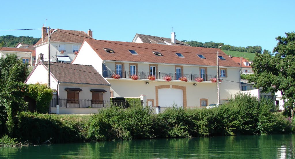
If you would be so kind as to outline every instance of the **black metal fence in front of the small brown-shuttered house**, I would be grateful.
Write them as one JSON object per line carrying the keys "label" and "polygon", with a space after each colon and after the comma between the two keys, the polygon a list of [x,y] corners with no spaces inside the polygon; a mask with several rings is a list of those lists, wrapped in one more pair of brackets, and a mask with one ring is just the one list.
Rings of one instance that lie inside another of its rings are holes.
{"label": "black metal fence in front of the small brown-shuttered house", "polygon": [[55,99],[50,102],[50,107],[65,107],[65,108],[106,108],[111,105],[122,108],[128,108],[130,106],[142,105],[142,102],[138,101],[126,101],[126,100],[84,100],[84,99]]}

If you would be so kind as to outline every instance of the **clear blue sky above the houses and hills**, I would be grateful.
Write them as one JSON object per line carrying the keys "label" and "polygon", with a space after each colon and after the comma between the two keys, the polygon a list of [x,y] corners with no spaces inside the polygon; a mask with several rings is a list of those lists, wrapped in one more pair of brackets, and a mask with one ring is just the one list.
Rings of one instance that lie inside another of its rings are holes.
{"label": "clear blue sky above the houses and hills", "polygon": [[[41,3],[42,2],[42,3]],[[101,40],[131,42],[136,33],[273,50],[294,31],[294,0],[286,1],[2,1],[0,29],[93,31]],[[49,9],[47,9],[49,8]],[[0,31],[41,37],[41,30]]]}

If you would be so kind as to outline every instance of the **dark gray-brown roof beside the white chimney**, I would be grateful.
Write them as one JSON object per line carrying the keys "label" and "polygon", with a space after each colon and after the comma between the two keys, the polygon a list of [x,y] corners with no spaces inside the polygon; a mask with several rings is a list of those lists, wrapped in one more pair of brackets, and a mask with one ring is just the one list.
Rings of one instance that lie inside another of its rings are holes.
{"label": "dark gray-brown roof beside the white chimney", "polygon": [[143,43],[147,44],[159,44],[165,42],[168,42],[171,45],[177,45],[177,46],[189,46],[188,44],[175,40],[175,43],[171,42],[171,38],[164,38],[164,37],[156,37],[152,35],[144,35],[144,34],[137,34],[138,37],[142,40]]}

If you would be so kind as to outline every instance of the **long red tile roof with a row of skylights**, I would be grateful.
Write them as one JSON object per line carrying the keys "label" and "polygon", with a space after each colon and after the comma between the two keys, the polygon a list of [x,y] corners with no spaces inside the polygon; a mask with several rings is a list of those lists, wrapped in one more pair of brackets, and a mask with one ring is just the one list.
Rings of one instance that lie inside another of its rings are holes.
{"label": "long red tile roof with a row of skylights", "polygon": [[[217,49],[95,39],[85,39],[85,42],[87,42],[103,60],[216,66]],[[107,53],[104,48],[112,49],[115,53]],[[128,50],[135,50],[138,55],[131,54]],[[153,51],[158,51],[162,53],[163,56],[156,56]],[[230,59],[228,55],[222,52],[222,50],[218,49],[218,52],[219,56],[226,59],[219,60],[219,66],[240,67],[235,61]],[[178,57],[175,53],[181,53],[184,57]],[[197,54],[203,55],[206,59],[201,59]]]}

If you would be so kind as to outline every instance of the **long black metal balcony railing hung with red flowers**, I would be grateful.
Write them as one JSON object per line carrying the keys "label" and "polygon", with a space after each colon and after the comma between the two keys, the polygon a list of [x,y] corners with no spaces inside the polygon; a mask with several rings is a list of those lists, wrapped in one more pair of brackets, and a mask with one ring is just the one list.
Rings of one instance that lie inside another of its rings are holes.
{"label": "long black metal balcony railing hung with red flowers", "polygon": [[[150,76],[150,72],[128,72],[128,71],[123,71],[121,75],[121,78],[131,78],[133,74],[136,74],[139,79],[148,79],[148,76]],[[103,77],[111,77],[113,74],[116,74],[116,71],[111,71],[111,70],[104,70],[103,71]],[[164,80],[165,76],[171,76],[172,80],[178,80],[176,77],[177,74],[175,73],[165,73],[165,72],[157,72],[155,74],[156,80]],[[217,78],[216,75],[212,74],[181,74],[182,77],[186,77],[189,81],[194,81],[197,77],[203,78],[204,81],[210,81],[211,78]]]}

